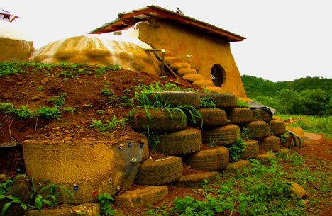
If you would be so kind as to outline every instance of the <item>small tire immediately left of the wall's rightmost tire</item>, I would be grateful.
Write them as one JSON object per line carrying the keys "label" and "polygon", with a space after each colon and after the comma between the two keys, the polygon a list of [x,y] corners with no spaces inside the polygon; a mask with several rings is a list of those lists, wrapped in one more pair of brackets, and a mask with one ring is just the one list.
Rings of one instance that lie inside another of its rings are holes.
{"label": "small tire immediately left of the wall's rightmost tire", "polygon": [[270,126],[263,120],[252,121],[243,125],[248,129],[248,137],[253,140],[260,140],[270,135]]}

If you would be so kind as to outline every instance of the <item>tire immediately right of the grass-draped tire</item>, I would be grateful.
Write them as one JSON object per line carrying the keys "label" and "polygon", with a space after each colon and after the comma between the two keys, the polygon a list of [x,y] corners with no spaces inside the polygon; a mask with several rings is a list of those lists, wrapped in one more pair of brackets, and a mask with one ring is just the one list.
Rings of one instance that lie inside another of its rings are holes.
{"label": "tire immediately right of the grass-draped tire", "polygon": [[196,127],[211,128],[220,127],[227,123],[227,115],[224,110],[219,108],[199,108],[201,118],[196,118],[197,123],[192,123],[192,120],[188,119],[188,124]]}

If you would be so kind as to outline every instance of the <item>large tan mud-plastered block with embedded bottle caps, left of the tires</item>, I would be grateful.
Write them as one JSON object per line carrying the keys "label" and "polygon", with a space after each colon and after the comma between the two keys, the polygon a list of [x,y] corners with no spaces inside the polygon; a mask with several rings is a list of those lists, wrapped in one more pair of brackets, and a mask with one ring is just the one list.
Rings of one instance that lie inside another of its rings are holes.
{"label": "large tan mud-plastered block with embedded bottle caps, left of the tires", "polygon": [[[57,195],[57,203],[98,202],[94,194],[114,195],[118,193],[118,187],[122,188],[126,183],[123,170],[131,162],[123,161],[116,152],[115,144],[114,141],[89,140],[23,142],[26,174],[35,183],[50,181],[61,186],[55,191],[61,192]],[[62,188],[72,192],[72,197]]]}

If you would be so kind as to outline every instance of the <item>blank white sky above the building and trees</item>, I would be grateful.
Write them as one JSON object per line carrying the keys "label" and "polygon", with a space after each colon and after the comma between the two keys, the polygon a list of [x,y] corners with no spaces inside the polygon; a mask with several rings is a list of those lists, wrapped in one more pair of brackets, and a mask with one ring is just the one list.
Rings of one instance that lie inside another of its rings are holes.
{"label": "blank white sky above the building and trees", "polygon": [[332,78],[331,0],[1,0],[0,8],[23,19],[19,25],[38,48],[82,35],[118,13],[149,5],[216,25],[247,39],[231,43],[240,74],[271,81],[306,76]]}

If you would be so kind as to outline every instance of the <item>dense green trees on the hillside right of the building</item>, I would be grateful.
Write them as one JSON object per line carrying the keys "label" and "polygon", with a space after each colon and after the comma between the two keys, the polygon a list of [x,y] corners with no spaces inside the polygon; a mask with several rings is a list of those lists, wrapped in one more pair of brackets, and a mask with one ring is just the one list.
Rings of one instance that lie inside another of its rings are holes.
{"label": "dense green trees on the hillside right of the building", "polygon": [[331,115],[332,79],[305,77],[278,81],[241,76],[248,98],[271,106],[280,114]]}

